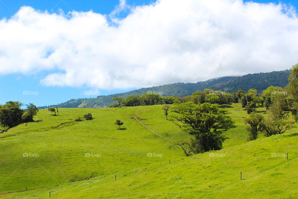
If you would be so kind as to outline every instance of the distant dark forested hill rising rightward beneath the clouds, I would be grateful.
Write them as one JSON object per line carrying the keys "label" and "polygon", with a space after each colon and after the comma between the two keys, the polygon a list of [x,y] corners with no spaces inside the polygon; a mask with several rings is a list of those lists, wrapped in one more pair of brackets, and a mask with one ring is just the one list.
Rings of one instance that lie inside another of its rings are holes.
{"label": "distant dark forested hill rising rightward beneath the clouds", "polygon": [[[285,71],[273,71],[267,73],[254,73],[244,76],[225,76],[210,79],[207,81],[199,81],[197,83],[174,83],[162,86],[153,86],[149,88],[141,88],[132,90],[125,93],[118,93],[113,95],[102,95],[97,98],[84,98],[84,99],[70,99],[67,102],[57,104],[60,108],[100,108],[109,106],[112,103],[113,97],[126,98],[129,95],[142,95],[147,92],[157,92],[163,96],[180,96],[184,97],[191,95],[193,92],[210,88],[213,90],[221,90],[226,92],[234,92],[238,89],[247,91],[251,88],[259,90],[265,90],[269,86],[281,86],[285,87],[288,84],[288,76],[290,70]],[[56,105],[51,105],[56,106]],[[38,107],[38,109],[45,109],[48,106]]]}

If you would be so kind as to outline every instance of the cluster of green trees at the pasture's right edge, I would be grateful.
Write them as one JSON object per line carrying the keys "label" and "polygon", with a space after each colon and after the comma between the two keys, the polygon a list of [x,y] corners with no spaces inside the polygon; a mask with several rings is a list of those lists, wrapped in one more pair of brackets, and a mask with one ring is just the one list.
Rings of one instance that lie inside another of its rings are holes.
{"label": "cluster of green trees at the pasture's right edge", "polygon": [[[250,89],[246,96],[248,101],[246,105],[247,113],[251,113],[252,108],[257,102],[260,102],[266,109],[268,117],[264,120],[264,117],[258,114],[253,114],[244,121],[247,130],[247,140],[257,139],[259,132],[263,132],[266,137],[282,134],[287,130],[294,128],[297,121],[297,99],[295,98],[298,81],[297,81],[297,69],[298,65],[292,67],[291,75],[289,77],[289,85],[285,88],[290,95],[287,95],[286,91],[282,88],[269,86],[262,92],[260,98],[257,97],[257,92]],[[249,100],[251,102],[249,102]],[[252,104],[253,103],[253,104]],[[243,107],[243,103],[242,103]],[[294,117],[295,121],[290,119],[290,113]]]}

